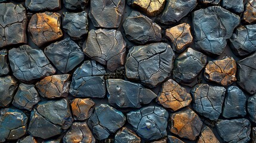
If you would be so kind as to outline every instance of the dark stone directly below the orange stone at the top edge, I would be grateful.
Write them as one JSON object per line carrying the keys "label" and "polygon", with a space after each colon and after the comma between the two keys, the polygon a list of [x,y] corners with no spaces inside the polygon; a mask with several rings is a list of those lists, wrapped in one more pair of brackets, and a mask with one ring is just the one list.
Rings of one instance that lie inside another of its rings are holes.
{"label": "dark stone directly below the orange stone at the top edge", "polygon": [[134,43],[159,42],[162,38],[161,27],[138,11],[132,11],[129,14],[124,21],[123,27],[125,36]]}

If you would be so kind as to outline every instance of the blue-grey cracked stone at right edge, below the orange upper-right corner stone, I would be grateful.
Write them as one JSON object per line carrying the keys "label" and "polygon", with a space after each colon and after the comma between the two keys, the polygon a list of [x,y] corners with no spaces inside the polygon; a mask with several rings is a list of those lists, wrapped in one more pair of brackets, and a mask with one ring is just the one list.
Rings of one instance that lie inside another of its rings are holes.
{"label": "blue-grey cracked stone at right edge, below the orange upper-right corner stone", "polygon": [[239,26],[230,38],[230,48],[235,55],[248,55],[256,51],[256,24]]}

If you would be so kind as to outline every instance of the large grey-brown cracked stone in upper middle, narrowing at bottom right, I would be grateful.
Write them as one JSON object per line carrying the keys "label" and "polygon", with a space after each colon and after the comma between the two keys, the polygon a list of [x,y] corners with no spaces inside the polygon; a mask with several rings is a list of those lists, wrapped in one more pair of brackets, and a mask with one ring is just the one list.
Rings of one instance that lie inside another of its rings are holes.
{"label": "large grey-brown cracked stone in upper middle, narrowing at bottom right", "polygon": [[124,66],[126,57],[126,42],[122,33],[114,29],[90,30],[83,49],[85,55],[107,65],[107,69],[115,71]]}

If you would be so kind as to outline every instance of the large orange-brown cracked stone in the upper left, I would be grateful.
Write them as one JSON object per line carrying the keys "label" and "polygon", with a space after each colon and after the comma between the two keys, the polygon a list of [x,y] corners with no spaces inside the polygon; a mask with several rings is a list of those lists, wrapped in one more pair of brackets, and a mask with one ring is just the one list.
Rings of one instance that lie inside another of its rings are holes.
{"label": "large orange-brown cracked stone in the upper left", "polygon": [[28,26],[32,41],[39,47],[57,41],[63,37],[60,29],[60,17],[58,13],[36,13],[33,14]]}

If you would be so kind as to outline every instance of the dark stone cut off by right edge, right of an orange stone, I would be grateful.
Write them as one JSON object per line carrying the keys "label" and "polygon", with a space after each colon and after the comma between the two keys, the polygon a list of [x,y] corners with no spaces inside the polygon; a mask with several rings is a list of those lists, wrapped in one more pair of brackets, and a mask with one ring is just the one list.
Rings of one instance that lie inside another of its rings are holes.
{"label": "dark stone cut off by right edge, right of an orange stone", "polygon": [[[256,93],[256,52],[237,62],[236,73],[238,85],[249,94]],[[249,76],[248,76],[249,75]]]}

